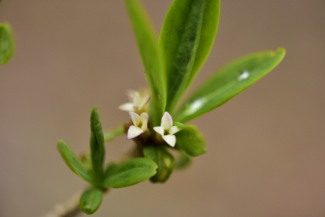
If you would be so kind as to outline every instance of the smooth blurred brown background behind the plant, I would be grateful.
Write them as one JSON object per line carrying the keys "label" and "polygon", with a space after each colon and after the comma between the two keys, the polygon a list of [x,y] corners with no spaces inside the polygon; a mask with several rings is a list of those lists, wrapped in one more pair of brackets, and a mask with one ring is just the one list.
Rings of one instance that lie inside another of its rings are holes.
{"label": "smooth blurred brown background behind the plant", "polygon": [[[171,1],[144,5],[160,31]],[[210,57],[191,89],[230,60],[279,46],[273,72],[193,121],[208,152],[166,184],[106,194],[93,216],[325,216],[325,1],[222,1]],[[86,187],[56,149],[89,151],[89,117],[129,118],[125,91],[146,87],[122,1],[3,0],[16,55],[0,66],[0,216],[41,216]],[[107,143],[107,160],[132,148]],[[86,216],[81,214],[80,216]]]}

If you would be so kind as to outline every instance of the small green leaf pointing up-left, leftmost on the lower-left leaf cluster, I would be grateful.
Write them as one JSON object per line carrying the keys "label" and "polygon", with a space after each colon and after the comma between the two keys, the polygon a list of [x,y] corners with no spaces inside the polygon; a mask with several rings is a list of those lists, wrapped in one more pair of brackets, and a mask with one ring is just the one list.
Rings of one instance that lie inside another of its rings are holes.
{"label": "small green leaf pointing up-left, leftmost on the lower-left leaf cluster", "polygon": [[72,172],[79,175],[84,181],[92,184],[91,173],[63,140],[59,140],[59,143],[57,143],[57,150],[59,150],[64,162]]}

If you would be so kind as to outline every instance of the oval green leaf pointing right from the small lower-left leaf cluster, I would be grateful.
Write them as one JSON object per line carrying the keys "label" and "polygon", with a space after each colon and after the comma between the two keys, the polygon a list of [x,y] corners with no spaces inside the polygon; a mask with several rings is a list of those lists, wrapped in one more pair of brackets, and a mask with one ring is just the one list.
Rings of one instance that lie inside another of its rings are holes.
{"label": "oval green leaf pointing right from the small lower-left leaf cluster", "polygon": [[106,170],[104,186],[114,189],[143,182],[156,174],[157,165],[146,157],[132,158],[121,165],[111,164]]}

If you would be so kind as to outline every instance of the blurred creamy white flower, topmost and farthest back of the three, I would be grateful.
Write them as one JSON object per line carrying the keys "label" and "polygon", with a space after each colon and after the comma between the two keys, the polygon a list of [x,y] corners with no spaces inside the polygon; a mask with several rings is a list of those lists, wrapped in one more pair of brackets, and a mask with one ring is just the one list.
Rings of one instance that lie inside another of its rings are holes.
{"label": "blurred creamy white flower, topmost and farthest back of the three", "polygon": [[150,99],[150,95],[145,90],[130,90],[127,91],[127,96],[129,97],[130,102],[120,105],[118,109],[123,111],[141,112]]}

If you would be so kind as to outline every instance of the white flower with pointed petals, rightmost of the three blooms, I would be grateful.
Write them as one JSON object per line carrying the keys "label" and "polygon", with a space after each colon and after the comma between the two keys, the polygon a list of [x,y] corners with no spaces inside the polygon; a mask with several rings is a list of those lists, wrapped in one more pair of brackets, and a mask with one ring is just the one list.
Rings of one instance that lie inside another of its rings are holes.
{"label": "white flower with pointed petals, rightmost of the three blooms", "polygon": [[[171,118],[171,115],[166,111],[164,116],[161,118],[160,126],[154,127],[154,130],[161,135],[167,144],[174,147],[176,144],[176,136],[173,134],[177,133],[181,129],[177,126],[173,126],[173,118]],[[165,133],[167,135],[164,135]]]}

